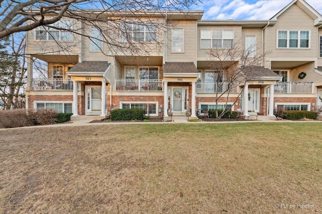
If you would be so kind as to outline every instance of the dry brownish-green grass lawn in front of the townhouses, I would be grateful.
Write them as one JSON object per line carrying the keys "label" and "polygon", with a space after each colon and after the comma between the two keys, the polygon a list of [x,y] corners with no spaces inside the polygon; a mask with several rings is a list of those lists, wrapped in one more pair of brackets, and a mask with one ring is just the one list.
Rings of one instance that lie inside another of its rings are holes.
{"label": "dry brownish-green grass lawn in front of the townhouses", "polygon": [[0,130],[0,213],[322,213],[321,130],[322,123]]}

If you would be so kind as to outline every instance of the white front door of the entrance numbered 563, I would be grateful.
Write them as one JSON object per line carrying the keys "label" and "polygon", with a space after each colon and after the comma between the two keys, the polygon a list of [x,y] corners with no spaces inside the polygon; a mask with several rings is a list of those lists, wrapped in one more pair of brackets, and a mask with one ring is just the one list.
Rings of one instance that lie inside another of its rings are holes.
{"label": "white front door of the entrance numbered 563", "polygon": [[102,107],[102,87],[87,86],[86,88],[86,112],[101,113]]}

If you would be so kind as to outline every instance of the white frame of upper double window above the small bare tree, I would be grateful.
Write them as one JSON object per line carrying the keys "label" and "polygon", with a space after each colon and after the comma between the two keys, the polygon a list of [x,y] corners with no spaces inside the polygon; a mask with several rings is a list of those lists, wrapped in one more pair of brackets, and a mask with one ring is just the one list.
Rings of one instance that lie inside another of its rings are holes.
{"label": "white frame of upper double window above the small bare tree", "polygon": [[[221,31],[221,38],[215,38],[213,36],[214,31]],[[225,38],[224,37],[225,31],[231,31],[232,32],[232,38]],[[206,35],[203,35],[202,32],[208,32],[207,35],[210,36],[210,37],[209,38],[206,38]],[[234,35],[235,35],[235,31],[232,30],[232,29],[218,29],[218,30],[200,29],[199,47],[200,47],[200,49],[207,49],[207,48],[230,49],[230,48],[233,48],[233,45],[234,45]],[[201,47],[202,40],[210,40],[210,47]],[[221,46],[220,47],[213,47],[213,41],[214,40],[221,40]],[[231,47],[224,47],[224,41],[225,40],[232,40]]]}

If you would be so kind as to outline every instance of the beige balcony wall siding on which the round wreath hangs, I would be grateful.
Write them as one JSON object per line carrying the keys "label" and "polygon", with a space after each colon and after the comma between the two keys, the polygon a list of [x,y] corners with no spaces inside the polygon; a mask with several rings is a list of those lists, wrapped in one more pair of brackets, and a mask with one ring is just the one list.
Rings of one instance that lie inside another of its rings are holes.
{"label": "beige balcony wall siding on which the round wreath hangs", "polygon": [[[298,74],[301,72],[306,73],[304,79],[299,79]],[[299,66],[293,69],[293,82],[321,82],[322,75],[315,72],[314,62]]]}

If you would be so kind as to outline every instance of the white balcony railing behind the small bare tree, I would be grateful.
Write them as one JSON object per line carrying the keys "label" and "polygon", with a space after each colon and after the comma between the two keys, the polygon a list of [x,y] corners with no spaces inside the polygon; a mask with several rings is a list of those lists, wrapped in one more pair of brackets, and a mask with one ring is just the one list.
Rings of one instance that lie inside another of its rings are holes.
{"label": "white balcony railing behind the small bare tree", "polygon": [[[229,90],[228,90],[229,89]],[[228,82],[220,82],[220,83],[204,83],[197,82],[196,92],[197,93],[237,93],[237,85]]]}

